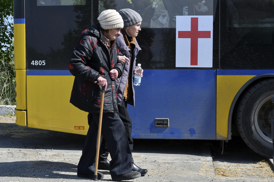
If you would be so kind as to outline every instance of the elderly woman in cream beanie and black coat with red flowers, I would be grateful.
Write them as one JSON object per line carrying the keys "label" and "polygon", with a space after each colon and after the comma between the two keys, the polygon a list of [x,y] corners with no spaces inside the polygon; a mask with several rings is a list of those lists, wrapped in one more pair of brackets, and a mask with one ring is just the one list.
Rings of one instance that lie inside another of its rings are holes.
{"label": "elderly woman in cream beanie and black coat with red flowers", "polygon": [[[122,64],[118,63],[116,38],[124,22],[115,10],[105,10],[99,17],[99,24],[82,31],[79,44],[69,59],[69,70],[75,76],[70,103],[88,112],[88,133],[84,142],[82,156],[77,167],[78,177],[93,178],[96,166],[96,138],[98,133],[99,110],[104,87],[102,115],[102,136],[108,142],[110,175],[112,180],[121,181],[140,177],[132,171],[131,151],[126,130],[118,115],[115,79],[122,75]],[[98,82],[94,84],[94,82]],[[98,172],[98,179],[104,175]]]}

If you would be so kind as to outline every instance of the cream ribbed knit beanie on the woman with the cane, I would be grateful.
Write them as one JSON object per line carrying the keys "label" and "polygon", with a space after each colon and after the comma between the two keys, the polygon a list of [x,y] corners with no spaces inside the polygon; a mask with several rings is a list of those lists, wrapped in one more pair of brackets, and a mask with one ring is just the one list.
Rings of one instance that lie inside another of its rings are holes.
{"label": "cream ribbed knit beanie on the woman with the cane", "polygon": [[99,20],[100,26],[104,30],[124,27],[122,16],[114,9],[103,11],[97,20]]}

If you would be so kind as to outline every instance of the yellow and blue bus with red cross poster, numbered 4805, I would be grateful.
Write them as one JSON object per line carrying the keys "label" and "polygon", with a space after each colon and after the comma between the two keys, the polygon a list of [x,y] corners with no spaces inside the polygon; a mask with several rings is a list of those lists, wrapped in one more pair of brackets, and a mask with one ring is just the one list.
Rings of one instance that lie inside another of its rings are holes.
{"label": "yellow and blue bus with red cross poster, numbered 4805", "polygon": [[272,0],[14,0],[17,125],[86,135],[68,59],[100,12],[122,8],[143,19],[132,138],[225,141],[238,130],[272,156]]}

